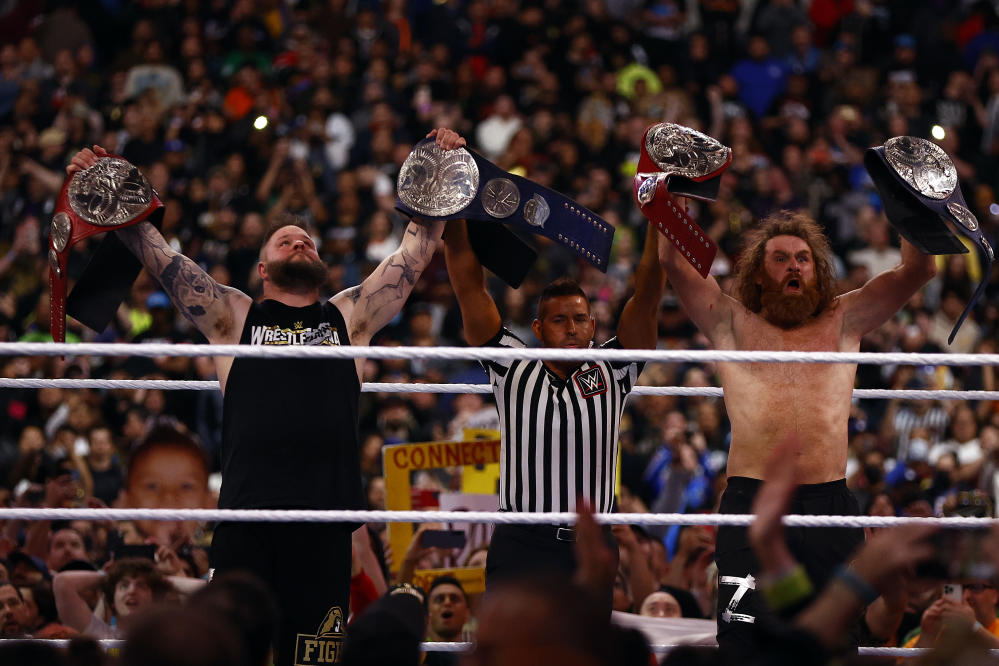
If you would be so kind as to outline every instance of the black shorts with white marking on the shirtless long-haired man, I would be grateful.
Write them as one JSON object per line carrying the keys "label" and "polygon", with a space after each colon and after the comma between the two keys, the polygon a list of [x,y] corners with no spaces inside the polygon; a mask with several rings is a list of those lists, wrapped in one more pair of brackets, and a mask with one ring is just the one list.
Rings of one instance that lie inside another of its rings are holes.
{"label": "black shorts with white marking on the shirtless long-haired man", "polygon": [[[763,484],[758,479],[730,477],[722,495],[719,513],[753,512],[753,498]],[[846,481],[802,485],[788,513],[801,515],[848,515],[860,513]],[[808,572],[815,591],[821,590],[836,567],[847,561],[864,541],[861,528],[794,527],[786,530],[787,543],[795,559]],[[745,527],[721,527],[715,546],[718,563],[718,647],[724,663],[740,663],[758,655],[761,635],[777,621],[754,589],[760,566],[746,539]]]}

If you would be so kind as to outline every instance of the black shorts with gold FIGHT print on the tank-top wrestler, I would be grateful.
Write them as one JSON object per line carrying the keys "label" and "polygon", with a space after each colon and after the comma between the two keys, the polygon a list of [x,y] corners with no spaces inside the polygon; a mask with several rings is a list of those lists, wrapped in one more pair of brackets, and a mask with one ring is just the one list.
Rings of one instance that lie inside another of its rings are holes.
{"label": "black shorts with gold FIGHT print on the tank-top wrestler", "polygon": [[339,660],[350,603],[350,527],[334,523],[216,527],[214,575],[251,571],[274,592],[281,613],[276,666]]}

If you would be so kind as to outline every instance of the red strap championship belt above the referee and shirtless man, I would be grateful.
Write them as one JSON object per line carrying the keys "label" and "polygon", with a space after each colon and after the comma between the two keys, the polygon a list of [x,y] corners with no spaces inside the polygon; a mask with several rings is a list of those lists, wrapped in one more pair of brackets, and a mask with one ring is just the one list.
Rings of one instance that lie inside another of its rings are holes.
{"label": "red strap championship belt above the referee and shirtless man", "polygon": [[674,194],[714,201],[732,149],[683,125],[658,123],[645,130],[635,175],[642,214],[668,238],[701,277],[707,277],[718,246],[687,215]]}

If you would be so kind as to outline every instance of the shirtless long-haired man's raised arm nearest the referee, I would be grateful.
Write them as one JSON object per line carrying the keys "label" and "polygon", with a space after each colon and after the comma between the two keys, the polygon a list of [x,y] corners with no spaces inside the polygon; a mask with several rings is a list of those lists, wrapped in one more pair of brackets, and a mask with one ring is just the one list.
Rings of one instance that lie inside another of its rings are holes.
{"label": "shirtless long-haired man's raised arm nearest the referee", "polygon": [[687,316],[717,347],[732,328],[734,299],[724,294],[714,276],[702,278],[672,243],[659,243],[659,262]]}

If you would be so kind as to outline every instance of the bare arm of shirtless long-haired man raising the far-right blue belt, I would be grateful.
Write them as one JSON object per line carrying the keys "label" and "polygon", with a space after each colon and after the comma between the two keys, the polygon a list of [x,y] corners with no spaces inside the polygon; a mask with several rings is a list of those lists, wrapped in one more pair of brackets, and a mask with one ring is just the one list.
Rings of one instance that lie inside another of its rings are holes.
{"label": "bare arm of shirtless long-haired man raising the far-right blue belt", "polygon": [[902,239],[902,263],[841,297],[843,333],[861,338],[888,321],[937,273],[933,255]]}

